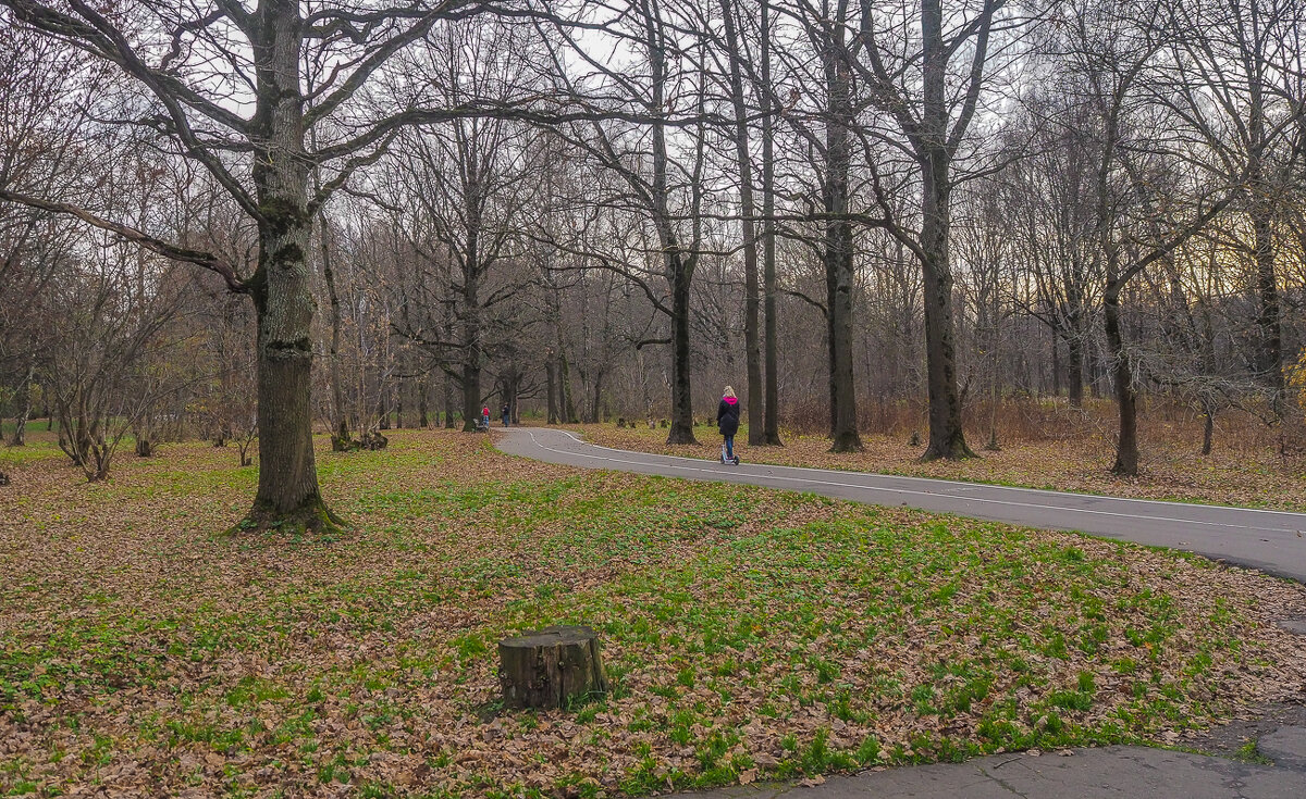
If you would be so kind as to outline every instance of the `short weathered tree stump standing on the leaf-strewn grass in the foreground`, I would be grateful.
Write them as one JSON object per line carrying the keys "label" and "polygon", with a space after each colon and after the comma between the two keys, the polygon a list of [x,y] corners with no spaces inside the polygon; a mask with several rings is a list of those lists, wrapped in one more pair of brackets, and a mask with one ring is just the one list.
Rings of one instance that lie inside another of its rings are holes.
{"label": "short weathered tree stump standing on the leaf-strewn grass in the foreground", "polygon": [[598,636],[588,627],[546,627],[499,642],[499,684],[511,708],[562,708],[607,691]]}

